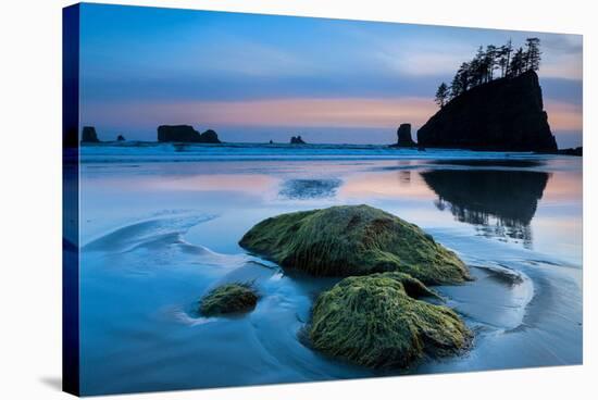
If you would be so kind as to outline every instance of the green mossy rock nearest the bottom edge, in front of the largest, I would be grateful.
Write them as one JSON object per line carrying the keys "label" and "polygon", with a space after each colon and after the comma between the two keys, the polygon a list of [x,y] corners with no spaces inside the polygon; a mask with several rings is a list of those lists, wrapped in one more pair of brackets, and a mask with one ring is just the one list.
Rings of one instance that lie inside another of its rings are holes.
{"label": "green mossy rock nearest the bottom edge, in front of the largest", "polygon": [[472,334],[449,308],[416,299],[429,295],[401,273],[345,278],[317,298],[310,341],[329,357],[375,368],[456,354]]}

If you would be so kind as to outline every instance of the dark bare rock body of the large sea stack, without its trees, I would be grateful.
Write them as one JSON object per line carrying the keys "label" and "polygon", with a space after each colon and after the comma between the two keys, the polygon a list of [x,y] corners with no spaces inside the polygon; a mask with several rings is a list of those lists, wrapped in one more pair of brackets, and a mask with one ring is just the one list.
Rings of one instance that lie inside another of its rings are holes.
{"label": "dark bare rock body of the large sea stack, without its trees", "polygon": [[476,86],[452,99],[418,130],[418,143],[487,151],[557,150],[533,71]]}

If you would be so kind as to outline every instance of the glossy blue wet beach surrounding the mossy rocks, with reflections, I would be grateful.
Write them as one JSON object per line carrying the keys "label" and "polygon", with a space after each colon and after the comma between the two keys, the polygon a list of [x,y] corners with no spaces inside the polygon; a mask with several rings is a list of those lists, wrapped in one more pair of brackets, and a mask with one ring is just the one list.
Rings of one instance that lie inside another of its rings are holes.
{"label": "glossy blue wet beach surrounding the mossy rocks, with reflections", "polygon": [[[581,363],[581,159],[499,155],[84,162],[83,392]],[[474,329],[470,351],[384,372],[322,357],[302,329],[337,279],[285,274],[237,243],[262,218],[358,203],[470,265],[474,282],[436,288]],[[197,315],[202,295],[239,280],[256,283],[256,310]]]}

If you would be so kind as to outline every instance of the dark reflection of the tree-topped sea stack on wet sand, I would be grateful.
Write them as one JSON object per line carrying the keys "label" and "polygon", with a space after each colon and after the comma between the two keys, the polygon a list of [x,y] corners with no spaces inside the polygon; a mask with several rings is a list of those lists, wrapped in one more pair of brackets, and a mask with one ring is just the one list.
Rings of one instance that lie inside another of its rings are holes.
{"label": "dark reflection of the tree-topped sea stack on wet sand", "polygon": [[532,247],[531,222],[550,174],[508,170],[433,170],[421,172],[438,196],[439,210],[474,225],[486,237],[521,240]]}

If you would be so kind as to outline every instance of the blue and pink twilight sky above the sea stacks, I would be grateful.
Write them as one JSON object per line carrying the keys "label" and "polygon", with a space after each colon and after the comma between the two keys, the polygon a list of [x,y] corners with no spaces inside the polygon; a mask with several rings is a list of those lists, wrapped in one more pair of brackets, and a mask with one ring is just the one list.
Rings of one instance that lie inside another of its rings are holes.
{"label": "blue and pink twilight sky above the sea stacks", "polygon": [[80,117],[101,140],[163,124],[223,141],[390,143],[478,46],[541,40],[538,75],[559,147],[582,145],[582,36],[83,4]]}

